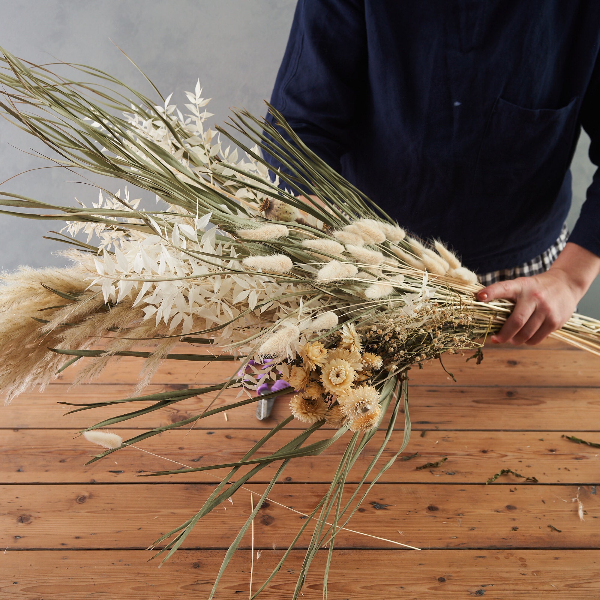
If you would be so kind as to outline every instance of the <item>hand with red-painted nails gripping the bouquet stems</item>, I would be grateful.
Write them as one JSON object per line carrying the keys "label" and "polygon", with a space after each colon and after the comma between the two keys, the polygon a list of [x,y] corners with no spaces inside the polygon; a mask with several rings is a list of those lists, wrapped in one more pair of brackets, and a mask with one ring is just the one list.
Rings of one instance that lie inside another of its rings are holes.
{"label": "hand with red-painted nails gripping the bouquet stems", "polygon": [[506,298],[515,302],[511,316],[491,341],[539,344],[567,322],[599,271],[600,257],[569,242],[548,271],[480,290],[480,301]]}

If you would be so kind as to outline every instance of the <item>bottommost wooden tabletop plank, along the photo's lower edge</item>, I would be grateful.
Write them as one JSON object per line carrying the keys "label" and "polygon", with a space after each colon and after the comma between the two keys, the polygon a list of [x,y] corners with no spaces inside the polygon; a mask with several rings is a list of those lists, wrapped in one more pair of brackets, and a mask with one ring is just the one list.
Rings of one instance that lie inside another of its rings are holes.
{"label": "bottommost wooden tabletop plank, along the photo's lower edge", "polygon": [[[208,598],[223,551],[178,551],[157,569],[141,551],[11,551],[0,555],[4,600],[185,600]],[[283,552],[263,550],[254,560],[252,591]],[[291,598],[304,553],[294,551],[259,596]],[[322,550],[304,587],[305,600],[323,598]],[[391,565],[394,565],[391,568]],[[250,551],[233,556],[215,598],[247,598]],[[335,550],[329,600],[592,600],[600,594],[599,550]]]}

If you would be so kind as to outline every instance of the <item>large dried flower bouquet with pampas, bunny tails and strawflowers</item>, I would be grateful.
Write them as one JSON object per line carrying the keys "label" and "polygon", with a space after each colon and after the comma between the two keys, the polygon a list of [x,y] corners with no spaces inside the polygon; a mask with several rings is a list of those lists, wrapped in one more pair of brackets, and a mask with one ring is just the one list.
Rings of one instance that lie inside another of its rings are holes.
{"label": "large dried flower bouquet with pampas, bunny tails and strawflowers", "polygon": [[[83,432],[106,448],[93,462],[161,431],[292,388],[290,416],[242,460],[156,473],[230,469],[196,514],[154,545],[162,544],[158,554],[168,559],[200,518],[269,464],[278,464],[226,553],[212,598],[289,461],[320,454],[343,438],[346,451],[329,490],[253,597],[305,530],[311,532],[310,543],[293,598],[324,546],[326,593],[335,536],[408,442],[407,370],[444,352],[474,349],[479,359],[482,338],[502,326],[511,302],[476,302],[474,292],[481,287],[476,275],[451,251],[440,242],[407,235],[306,148],[273,109],[277,128],[242,110],[233,113],[229,130],[213,130],[205,124],[211,114],[199,83],[194,92],[186,92],[184,114],[170,97],[156,106],[92,67],[70,65],[87,81],[71,80],[3,54],[0,105],[5,116],[58,152],[55,163],[124,180],[162,202],[154,210],[142,209],[126,189],[123,194],[101,189],[97,203],[77,208],[0,193],[0,205],[7,207],[3,214],[66,221],[54,239],[70,244],[64,254],[73,262],[68,269],[21,269],[1,276],[2,392],[11,400],[43,387],[82,358],[87,364],[76,383],[98,376],[120,356],[145,357],[139,395],[74,405],[76,410],[115,406],[113,418]],[[277,157],[292,175],[278,173],[272,181],[265,154]],[[553,335],[600,355],[596,320],[574,315]],[[200,344],[206,352],[173,352],[182,344]],[[135,350],[140,346],[152,349]],[[239,361],[239,370],[219,385],[142,395],[165,360]],[[211,408],[229,388],[238,388],[241,400]],[[101,431],[201,394],[214,397],[184,421],[125,441]],[[136,409],[142,400],[153,404]],[[123,412],[124,406],[129,412]],[[403,443],[376,470],[400,412]],[[383,442],[342,502],[347,473],[384,415]],[[256,458],[293,419],[307,428],[272,454]],[[311,434],[323,426],[337,430],[311,442]]]}

